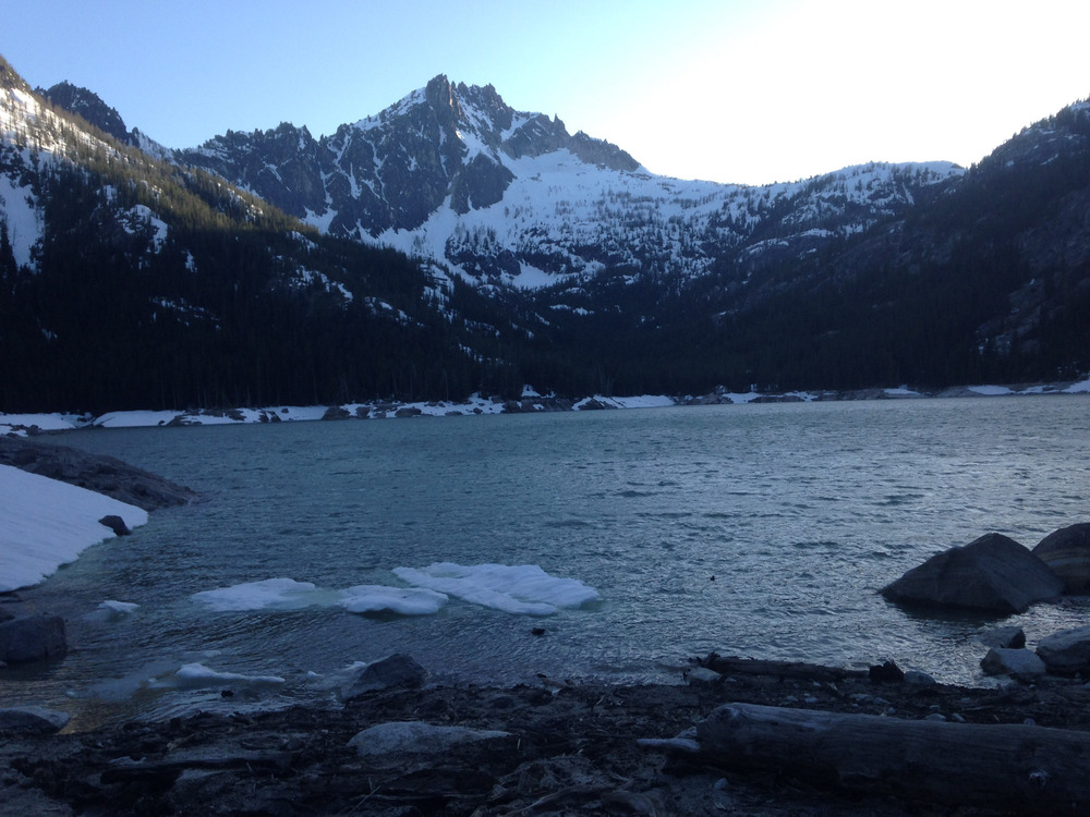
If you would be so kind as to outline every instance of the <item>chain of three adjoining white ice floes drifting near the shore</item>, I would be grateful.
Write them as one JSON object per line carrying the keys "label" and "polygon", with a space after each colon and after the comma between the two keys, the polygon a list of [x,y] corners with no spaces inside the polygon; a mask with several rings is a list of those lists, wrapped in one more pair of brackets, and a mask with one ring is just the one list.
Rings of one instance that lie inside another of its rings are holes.
{"label": "chain of three adjoining white ice floes drifting near the shore", "polygon": [[217,612],[318,606],[341,607],[353,613],[429,615],[438,612],[450,596],[457,596],[502,612],[552,615],[560,608],[578,608],[598,598],[597,590],[579,580],[552,576],[535,564],[436,562],[420,570],[397,568],[393,573],[413,586],[365,584],[334,590],[281,577],[202,590],[192,599]]}

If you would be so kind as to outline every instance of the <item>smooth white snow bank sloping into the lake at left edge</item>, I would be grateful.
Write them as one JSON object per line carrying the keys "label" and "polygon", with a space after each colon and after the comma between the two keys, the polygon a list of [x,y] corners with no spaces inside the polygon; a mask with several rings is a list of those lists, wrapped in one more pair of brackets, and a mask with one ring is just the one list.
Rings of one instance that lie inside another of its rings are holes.
{"label": "smooth white snow bank sloping into the lake at left edge", "polygon": [[98,520],[129,527],[147,511],[66,483],[0,465],[0,593],[38,584],[92,545],[113,538]]}

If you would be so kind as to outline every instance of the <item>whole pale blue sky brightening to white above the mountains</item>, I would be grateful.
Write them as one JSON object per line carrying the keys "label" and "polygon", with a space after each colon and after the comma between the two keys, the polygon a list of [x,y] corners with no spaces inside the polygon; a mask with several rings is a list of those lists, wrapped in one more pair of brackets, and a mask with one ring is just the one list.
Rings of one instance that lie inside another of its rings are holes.
{"label": "whole pale blue sky brightening to white above the mountains", "polygon": [[681,179],[979,161],[1090,97],[1086,0],[23,0],[0,54],[168,147],[315,136],[437,74]]}

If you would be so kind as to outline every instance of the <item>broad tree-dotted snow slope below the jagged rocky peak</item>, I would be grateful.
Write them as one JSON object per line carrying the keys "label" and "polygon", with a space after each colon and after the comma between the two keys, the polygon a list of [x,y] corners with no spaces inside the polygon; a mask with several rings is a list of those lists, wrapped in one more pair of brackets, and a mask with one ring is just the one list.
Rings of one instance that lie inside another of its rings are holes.
{"label": "broad tree-dotted snow slope below the jagged rocky peak", "polygon": [[[748,187],[598,168],[566,150],[505,164],[514,181],[502,202],[465,214],[440,207],[421,227],[386,230],[376,241],[468,280],[520,288],[617,266],[699,277],[731,251],[753,258],[796,243],[804,252],[862,232],[911,203],[908,182],[961,172],[949,162],[871,163]],[[862,212],[845,218],[852,207]],[[776,236],[754,240],[774,208],[788,211]]]}

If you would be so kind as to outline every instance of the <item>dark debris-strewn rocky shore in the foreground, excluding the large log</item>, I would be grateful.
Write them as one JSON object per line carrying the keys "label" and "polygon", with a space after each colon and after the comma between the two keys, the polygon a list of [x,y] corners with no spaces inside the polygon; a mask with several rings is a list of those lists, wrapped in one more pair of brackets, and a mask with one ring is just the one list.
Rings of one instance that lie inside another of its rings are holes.
{"label": "dark debris-strewn rocky shore in the foreground, excluding the large log", "polygon": [[[694,663],[688,683],[677,686],[569,685],[549,679],[513,688],[393,685],[327,708],[197,714],[71,734],[9,733],[0,742],[0,810],[994,814],[1004,809],[936,803],[873,785],[860,791],[846,785],[850,781],[815,773],[821,770],[801,758],[767,768],[723,763],[687,751],[686,741],[675,739],[717,707],[739,702],[954,728],[1034,723],[1050,732],[1090,733],[1090,688],[1081,680],[983,690],[714,656],[699,663],[725,671]],[[1013,805],[1014,813],[1056,813],[1054,805]],[[1079,804],[1071,804],[1070,813],[1079,813]]]}

